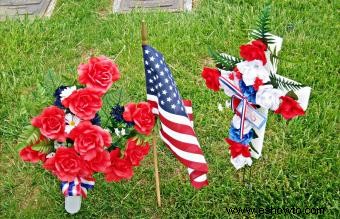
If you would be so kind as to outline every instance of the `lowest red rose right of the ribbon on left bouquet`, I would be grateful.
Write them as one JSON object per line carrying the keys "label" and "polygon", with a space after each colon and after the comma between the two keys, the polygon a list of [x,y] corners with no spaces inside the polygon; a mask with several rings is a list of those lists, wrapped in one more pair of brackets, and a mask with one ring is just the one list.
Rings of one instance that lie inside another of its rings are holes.
{"label": "lowest red rose right of the ribbon on left bouquet", "polygon": [[120,149],[116,148],[110,152],[111,165],[106,168],[105,179],[107,182],[119,182],[122,179],[131,179],[133,169],[130,161],[120,158]]}

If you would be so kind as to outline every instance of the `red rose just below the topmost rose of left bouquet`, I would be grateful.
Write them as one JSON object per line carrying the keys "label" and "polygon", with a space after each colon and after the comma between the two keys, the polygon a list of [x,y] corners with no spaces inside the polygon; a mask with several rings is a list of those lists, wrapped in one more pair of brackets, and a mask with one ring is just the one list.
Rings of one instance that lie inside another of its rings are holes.
{"label": "red rose just below the topmost rose of left bouquet", "polygon": [[100,93],[91,88],[73,91],[73,93],[62,101],[73,114],[82,120],[91,120],[103,105]]}

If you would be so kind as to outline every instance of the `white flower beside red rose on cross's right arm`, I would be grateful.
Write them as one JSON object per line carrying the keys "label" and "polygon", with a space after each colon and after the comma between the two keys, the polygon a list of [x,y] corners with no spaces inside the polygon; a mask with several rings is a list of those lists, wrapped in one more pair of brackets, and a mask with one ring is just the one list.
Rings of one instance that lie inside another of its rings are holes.
{"label": "white flower beside red rose on cross's right arm", "polygon": [[275,111],[279,108],[280,97],[283,95],[283,91],[274,89],[271,85],[260,86],[256,93],[256,104]]}

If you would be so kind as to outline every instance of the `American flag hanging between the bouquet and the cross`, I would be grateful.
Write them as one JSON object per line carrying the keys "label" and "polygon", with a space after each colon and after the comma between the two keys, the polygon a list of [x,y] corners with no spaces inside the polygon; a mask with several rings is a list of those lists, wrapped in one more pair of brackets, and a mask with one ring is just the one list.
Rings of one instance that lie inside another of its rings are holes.
{"label": "American flag hanging between the bouquet and the cross", "polygon": [[175,157],[188,168],[195,188],[208,185],[208,165],[193,129],[191,101],[182,100],[164,57],[144,45],[147,100],[161,122],[161,139]]}

